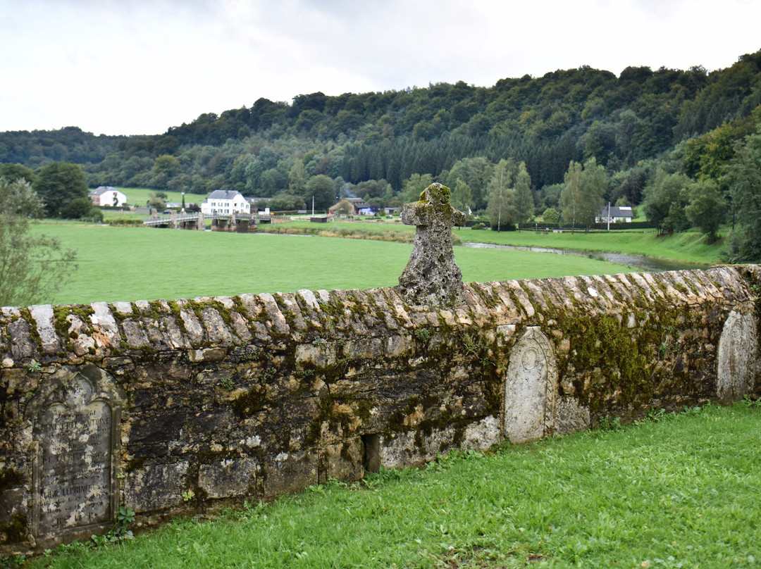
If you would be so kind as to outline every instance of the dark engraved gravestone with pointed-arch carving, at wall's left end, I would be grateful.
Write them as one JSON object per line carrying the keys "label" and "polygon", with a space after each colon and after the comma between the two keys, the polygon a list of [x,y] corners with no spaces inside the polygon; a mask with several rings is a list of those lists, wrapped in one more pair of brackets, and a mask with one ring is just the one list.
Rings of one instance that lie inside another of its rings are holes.
{"label": "dark engraved gravestone with pointed-arch carving, at wall's left end", "polygon": [[94,366],[59,370],[30,402],[31,529],[38,541],[113,524],[123,402],[112,378]]}

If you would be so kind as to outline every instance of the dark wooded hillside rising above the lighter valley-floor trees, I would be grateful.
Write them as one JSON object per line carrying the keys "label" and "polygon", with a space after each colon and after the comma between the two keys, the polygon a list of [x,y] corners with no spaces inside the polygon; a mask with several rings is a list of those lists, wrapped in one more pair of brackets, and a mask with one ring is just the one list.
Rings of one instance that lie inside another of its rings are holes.
{"label": "dark wooded hillside rising above the lighter valley-floor trees", "polygon": [[[0,133],[0,161],[37,167],[83,164],[94,184],[219,186],[272,195],[287,187],[292,162],[309,175],[349,183],[387,180],[394,191],[412,173],[437,176],[460,159],[525,161],[533,186],[562,182],[571,160],[594,156],[628,170],[681,141],[742,119],[761,103],[761,52],[707,73],[646,67],[619,77],[593,68],[506,78],[493,87],[463,82],[384,93],[298,95],[291,104],[204,113],[145,137],[95,137],[68,127]],[[156,164],[161,155],[178,164]],[[158,166],[158,168],[157,168]],[[287,180],[285,180],[287,181]],[[205,186],[205,188],[199,188]]]}

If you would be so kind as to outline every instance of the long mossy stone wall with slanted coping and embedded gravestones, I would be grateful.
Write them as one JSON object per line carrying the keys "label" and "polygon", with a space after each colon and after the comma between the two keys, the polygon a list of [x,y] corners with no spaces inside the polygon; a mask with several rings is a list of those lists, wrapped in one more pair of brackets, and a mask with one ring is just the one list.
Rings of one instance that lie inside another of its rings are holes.
{"label": "long mossy stone wall with slanted coping and embedded gravestones", "polygon": [[756,266],[3,308],[0,552],[761,389]]}

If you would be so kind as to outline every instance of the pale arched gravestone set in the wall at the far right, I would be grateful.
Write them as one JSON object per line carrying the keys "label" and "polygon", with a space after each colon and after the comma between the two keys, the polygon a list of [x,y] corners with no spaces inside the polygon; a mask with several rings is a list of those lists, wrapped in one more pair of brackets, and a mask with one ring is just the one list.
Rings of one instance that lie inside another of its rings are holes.
{"label": "pale arched gravestone set in the wall at the far right", "polygon": [[737,401],[753,391],[757,342],[753,315],[732,310],[718,340],[716,395],[721,402]]}

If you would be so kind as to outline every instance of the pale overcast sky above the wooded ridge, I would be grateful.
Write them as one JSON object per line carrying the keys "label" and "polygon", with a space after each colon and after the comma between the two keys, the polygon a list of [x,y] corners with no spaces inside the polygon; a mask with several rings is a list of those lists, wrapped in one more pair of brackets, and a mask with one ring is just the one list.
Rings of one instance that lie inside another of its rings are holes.
{"label": "pale overcast sky above the wooded ridge", "polygon": [[0,132],[161,134],[298,94],[726,68],[759,0],[0,0]]}

